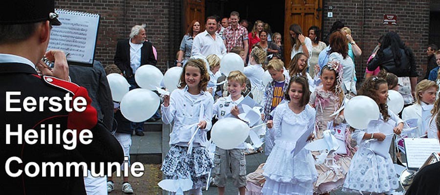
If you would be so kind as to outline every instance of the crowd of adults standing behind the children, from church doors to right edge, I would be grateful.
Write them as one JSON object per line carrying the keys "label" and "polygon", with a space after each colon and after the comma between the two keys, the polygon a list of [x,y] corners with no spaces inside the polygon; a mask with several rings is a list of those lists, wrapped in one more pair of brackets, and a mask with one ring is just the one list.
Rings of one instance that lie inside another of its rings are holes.
{"label": "crowd of adults standing behind the children, from church doors to right edge", "polygon": [[[229,18],[208,17],[204,28],[203,31],[198,20],[190,23],[176,55],[176,66],[183,66],[194,56],[206,58],[213,54],[221,59],[234,47],[244,49],[241,56],[245,66],[248,64],[250,51],[255,46],[266,51],[267,59],[263,65],[267,65],[271,59],[285,60],[286,48],[282,43],[282,34],[272,33],[270,25],[262,20],[256,20],[253,26],[249,26],[248,20],[240,19],[240,14],[233,11]],[[321,38],[321,35],[324,37]],[[362,62],[355,61],[355,58],[362,55],[362,49],[352,37],[352,30],[348,26],[338,20],[333,23],[328,33],[324,33],[317,26],[310,26],[307,32],[303,32],[300,25],[292,24],[288,36],[292,45],[292,48],[287,48],[290,50],[290,59],[298,53],[306,55],[307,73],[311,78],[319,75],[319,70],[329,62],[329,59],[338,60],[344,67],[344,91],[356,93],[358,79],[355,67],[362,66]],[[435,44],[427,47],[428,62],[424,79],[437,80],[436,71],[439,68],[434,55],[437,50]],[[393,73],[398,78],[399,93],[404,97],[405,105],[409,105],[415,99],[418,78],[415,61],[416,56],[399,35],[396,32],[388,32],[378,37],[377,46],[367,60],[363,78],[376,76],[380,70]],[[288,69],[289,64],[285,66]],[[220,72],[215,76],[219,78]]]}

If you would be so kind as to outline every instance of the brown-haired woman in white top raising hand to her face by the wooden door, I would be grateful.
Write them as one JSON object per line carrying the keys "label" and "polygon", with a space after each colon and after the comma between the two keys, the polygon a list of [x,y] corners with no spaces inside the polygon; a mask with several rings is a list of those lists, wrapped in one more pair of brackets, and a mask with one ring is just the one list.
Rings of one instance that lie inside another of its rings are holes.
{"label": "brown-haired woman in white top raising hand to her face by the wooden door", "polygon": [[290,59],[292,59],[297,53],[304,53],[307,58],[311,56],[311,40],[303,35],[303,30],[298,24],[292,24],[289,27],[290,42],[292,44],[292,52],[290,53]]}

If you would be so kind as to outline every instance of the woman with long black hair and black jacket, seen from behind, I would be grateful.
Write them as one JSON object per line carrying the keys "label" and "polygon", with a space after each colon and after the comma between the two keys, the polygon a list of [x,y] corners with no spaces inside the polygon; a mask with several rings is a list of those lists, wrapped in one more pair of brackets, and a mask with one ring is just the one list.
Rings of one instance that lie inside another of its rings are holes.
{"label": "woman with long black hair and black jacket, seen from behind", "polygon": [[413,51],[402,42],[396,32],[388,32],[383,37],[380,49],[367,68],[374,71],[378,66],[399,78],[399,93],[403,96],[405,105],[413,103],[418,77],[416,61]]}

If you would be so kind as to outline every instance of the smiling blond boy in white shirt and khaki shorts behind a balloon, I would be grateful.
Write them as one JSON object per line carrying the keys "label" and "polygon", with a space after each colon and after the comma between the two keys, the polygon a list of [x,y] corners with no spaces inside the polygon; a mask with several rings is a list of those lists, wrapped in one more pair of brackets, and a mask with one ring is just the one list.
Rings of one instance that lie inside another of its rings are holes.
{"label": "smiling blond boy in white shirt and khaki shorts behind a balloon", "polygon": [[[237,117],[240,111],[237,105],[244,99],[242,90],[245,89],[246,76],[240,71],[232,71],[228,76],[229,96],[219,98],[214,103],[213,113],[220,119]],[[214,183],[218,186],[219,195],[224,194],[227,172],[232,171],[233,184],[239,189],[240,195],[245,194],[246,186],[246,158],[244,156],[244,143],[232,150],[216,147],[214,156]]]}

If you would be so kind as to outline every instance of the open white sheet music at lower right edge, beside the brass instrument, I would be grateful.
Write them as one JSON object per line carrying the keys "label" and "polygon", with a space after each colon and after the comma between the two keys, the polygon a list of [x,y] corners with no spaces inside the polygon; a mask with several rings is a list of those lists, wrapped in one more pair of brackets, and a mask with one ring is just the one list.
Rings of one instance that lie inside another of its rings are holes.
{"label": "open white sheet music at lower right edge, beside the brass instrument", "polygon": [[406,160],[408,169],[417,170],[434,152],[440,152],[437,139],[429,138],[404,138]]}

